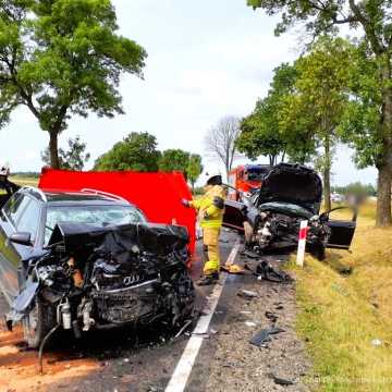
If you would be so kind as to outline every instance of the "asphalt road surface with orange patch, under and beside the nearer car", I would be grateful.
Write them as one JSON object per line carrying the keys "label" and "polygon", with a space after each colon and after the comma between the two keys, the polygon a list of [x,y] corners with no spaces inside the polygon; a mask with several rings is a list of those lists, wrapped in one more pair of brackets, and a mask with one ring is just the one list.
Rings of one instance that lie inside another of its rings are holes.
{"label": "asphalt road surface with orange patch, under and beside the nearer car", "polygon": [[[224,232],[222,260],[233,248],[236,235]],[[200,245],[200,244],[199,244]],[[200,274],[200,246],[193,264],[192,275]],[[230,275],[215,311],[211,331],[224,320],[230,285],[237,278]],[[197,287],[197,308],[203,309],[211,286]],[[0,315],[7,305],[0,298]],[[21,330],[13,333],[0,327],[0,392],[21,391],[163,391],[168,385],[189,333],[173,340],[166,331],[105,331],[74,341],[63,336],[45,355],[45,375],[38,375],[37,353],[27,351]],[[212,340],[211,340],[212,341]],[[187,383],[187,391],[203,391],[208,378],[208,358],[215,351],[206,339]]]}

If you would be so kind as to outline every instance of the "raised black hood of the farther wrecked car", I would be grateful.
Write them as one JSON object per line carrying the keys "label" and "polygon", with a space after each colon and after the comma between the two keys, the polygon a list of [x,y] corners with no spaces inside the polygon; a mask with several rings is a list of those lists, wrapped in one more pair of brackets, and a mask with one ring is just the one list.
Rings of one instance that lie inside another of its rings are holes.
{"label": "raised black hood of the farther wrecked car", "polygon": [[322,198],[319,175],[301,164],[280,163],[264,180],[257,205],[281,201],[302,206],[317,215]]}

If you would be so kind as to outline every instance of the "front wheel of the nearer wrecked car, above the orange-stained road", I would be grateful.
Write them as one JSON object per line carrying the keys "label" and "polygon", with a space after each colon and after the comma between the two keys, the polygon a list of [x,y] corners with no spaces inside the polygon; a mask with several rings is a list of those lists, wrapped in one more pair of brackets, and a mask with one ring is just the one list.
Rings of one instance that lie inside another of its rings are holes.
{"label": "front wheel of the nearer wrecked car, above the orange-stained road", "polygon": [[32,348],[38,348],[45,335],[54,327],[51,306],[36,298],[28,315],[23,319],[24,340]]}

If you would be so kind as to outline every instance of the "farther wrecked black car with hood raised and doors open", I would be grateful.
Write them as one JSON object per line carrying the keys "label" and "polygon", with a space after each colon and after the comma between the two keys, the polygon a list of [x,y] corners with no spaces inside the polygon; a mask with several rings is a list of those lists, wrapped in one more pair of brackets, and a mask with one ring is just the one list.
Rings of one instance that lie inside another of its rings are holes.
{"label": "farther wrecked black car with hood raised and doors open", "polygon": [[356,228],[351,220],[331,219],[338,207],[320,215],[322,182],[309,168],[280,163],[272,168],[256,194],[243,203],[225,204],[223,225],[244,233],[247,247],[257,253],[293,250],[298,244],[301,221],[308,221],[306,249],[319,259],[326,247],[348,249]]}

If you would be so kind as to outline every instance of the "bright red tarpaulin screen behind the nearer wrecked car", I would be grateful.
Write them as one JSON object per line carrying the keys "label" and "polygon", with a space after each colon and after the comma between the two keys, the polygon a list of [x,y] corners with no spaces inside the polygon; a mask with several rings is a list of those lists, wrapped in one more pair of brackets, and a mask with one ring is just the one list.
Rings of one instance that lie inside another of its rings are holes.
{"label": "bright red tarpaulin screen behind the nearer wrecked car", "polygon": [[63,192],[88,188],[121,196],[140,208],[150,222],[185,225],[191,236],[189,250],[195,250],[196,215],[181,204],[192,194],[180,172],[74,172],[45,168],[38,186]]}

